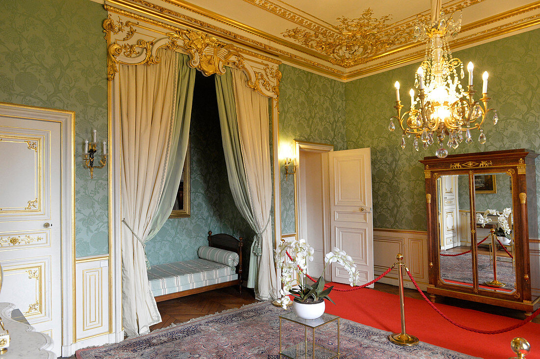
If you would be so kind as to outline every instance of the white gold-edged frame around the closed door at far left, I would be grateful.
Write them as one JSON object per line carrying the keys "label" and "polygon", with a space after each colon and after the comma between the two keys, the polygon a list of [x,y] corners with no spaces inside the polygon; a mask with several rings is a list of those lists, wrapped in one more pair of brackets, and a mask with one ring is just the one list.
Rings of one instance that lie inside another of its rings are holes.
{"label": "white gold-edged frame around the closed door at far left", "polygon": [[62,134],[62,347],[75,341],[75,112],[0,103],[0,116],[60,123]]}

